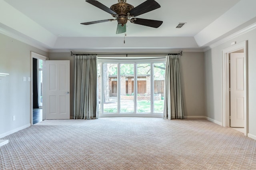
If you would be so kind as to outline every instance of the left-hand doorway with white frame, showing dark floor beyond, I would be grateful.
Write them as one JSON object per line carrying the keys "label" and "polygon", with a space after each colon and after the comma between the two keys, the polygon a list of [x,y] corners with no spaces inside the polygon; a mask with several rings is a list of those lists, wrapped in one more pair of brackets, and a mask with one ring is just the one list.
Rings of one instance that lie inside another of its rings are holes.
{"label": "left-hand doorway with white frame, showing dark floor beyond", "polygon": [[31,52],[30,81],[30,124],[34,125],[45,119],[44,115],[44,79],[45,60],[48,57]]}

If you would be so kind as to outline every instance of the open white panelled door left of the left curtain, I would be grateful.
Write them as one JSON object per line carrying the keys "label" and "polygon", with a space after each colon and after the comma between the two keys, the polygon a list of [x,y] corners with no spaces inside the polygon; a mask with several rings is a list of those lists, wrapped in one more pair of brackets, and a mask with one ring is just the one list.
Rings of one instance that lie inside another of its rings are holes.
{"label": "open white panelled door left of the left curtain", "polygon": [[70,61],[46,61],[46,119],[70,119]]}

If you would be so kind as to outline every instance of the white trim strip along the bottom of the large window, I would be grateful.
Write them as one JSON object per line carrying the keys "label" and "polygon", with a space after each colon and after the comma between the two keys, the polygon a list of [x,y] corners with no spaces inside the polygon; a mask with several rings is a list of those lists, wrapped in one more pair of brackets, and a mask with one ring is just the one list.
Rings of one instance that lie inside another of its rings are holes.
{"label": "white trim strip along the bottom of the large window", "polygon": [[163,118],[163,114],[103,114],[99,115],[99,118],[102,117],[155,117],[155,118]]}

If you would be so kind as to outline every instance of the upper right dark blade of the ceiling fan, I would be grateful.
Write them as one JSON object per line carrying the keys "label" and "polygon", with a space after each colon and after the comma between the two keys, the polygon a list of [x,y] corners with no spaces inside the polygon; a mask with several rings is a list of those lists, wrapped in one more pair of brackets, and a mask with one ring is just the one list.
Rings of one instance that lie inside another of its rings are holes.
{"label": "upper right dark blade of the ceiling fan", "polygon": [[155,0],[146,0],[142,4],[130,10],[129,13],[130,16],[139,16],[141,14],[145,14],[160,7],[161,6]]}

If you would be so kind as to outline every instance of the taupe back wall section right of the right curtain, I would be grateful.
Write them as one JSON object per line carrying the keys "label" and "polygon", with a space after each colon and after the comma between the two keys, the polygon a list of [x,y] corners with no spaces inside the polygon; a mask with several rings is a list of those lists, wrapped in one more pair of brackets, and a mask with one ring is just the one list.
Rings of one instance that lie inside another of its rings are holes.
{"label": "taupe back wall section right of the right curtain", "polygon": [[183,53],[180,67],[184,116],[204,116],[204,53]]}

